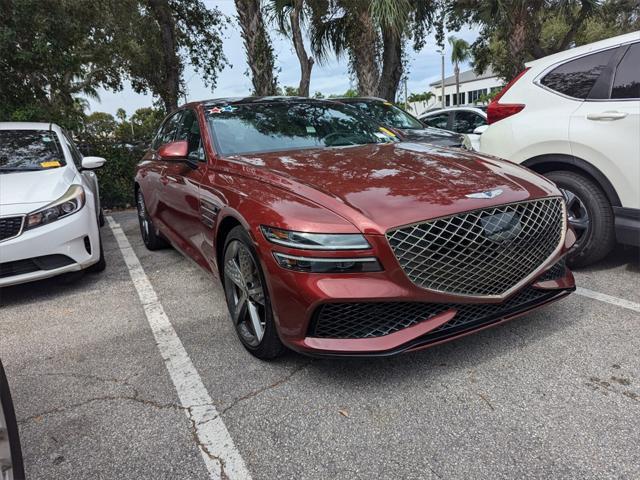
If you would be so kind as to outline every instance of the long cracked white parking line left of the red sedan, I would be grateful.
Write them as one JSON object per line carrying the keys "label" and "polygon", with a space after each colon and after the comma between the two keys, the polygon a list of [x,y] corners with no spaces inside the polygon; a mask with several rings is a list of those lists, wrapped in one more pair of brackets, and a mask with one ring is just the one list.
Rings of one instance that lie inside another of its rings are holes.
{"label": "long cracked white parking line left of the red sedan", "polygon": [[211,478],[250,479],[251,475],[240,452],[164,312],[140,260],[131,248],[129,239],[112,217],[108,216],[107,221],[127,264],[156,344],[178,392],[180,403],[191,422],[194,438]]}

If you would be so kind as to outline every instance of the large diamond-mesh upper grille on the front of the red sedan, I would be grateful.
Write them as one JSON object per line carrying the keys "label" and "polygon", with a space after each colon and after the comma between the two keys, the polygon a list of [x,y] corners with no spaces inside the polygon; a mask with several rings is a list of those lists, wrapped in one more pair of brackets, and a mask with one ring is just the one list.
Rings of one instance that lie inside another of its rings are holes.
{"label": "large diamond-mesh upper grille on the front of the red sedan", "polygon": [[526,281],[559,247],[560,198],[500,205],[387,232],[394,255],[419,287],[500,296]]}

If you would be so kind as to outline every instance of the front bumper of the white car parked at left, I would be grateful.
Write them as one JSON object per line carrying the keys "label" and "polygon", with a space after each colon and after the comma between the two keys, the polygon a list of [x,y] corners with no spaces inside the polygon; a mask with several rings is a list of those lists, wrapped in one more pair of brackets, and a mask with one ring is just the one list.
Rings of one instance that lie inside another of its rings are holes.
{"label": "front bumper of the white car parked at left", "polygon": [[98,260],[98,221],[87,204],[67,218],[0,242],[0,287],[82,270]]}

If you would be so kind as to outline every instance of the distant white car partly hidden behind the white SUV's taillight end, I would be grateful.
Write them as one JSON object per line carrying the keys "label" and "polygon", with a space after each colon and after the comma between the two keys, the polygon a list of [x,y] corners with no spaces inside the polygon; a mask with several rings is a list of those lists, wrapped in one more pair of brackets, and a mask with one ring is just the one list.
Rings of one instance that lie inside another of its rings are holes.
{"label": "distant white car partly hidden behind the white SUV's taillight end", "polygon": [[420,121],[430,127],[461,133],[467,149],[479,150],[480,135],[487,128],[487,112],[483,106],[442,108],[421,115]]}

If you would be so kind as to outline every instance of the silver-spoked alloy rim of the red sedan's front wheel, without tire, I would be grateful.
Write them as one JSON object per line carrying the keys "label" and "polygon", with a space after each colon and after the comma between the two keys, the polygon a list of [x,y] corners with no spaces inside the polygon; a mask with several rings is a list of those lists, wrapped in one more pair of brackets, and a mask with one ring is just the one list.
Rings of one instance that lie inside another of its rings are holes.
{"label": "silver-spoked alloy rim of the red sedan's front wheel, without tire", "polygon": [[266,328],[264,288],[253,255],[239,240],[225,251],[224,286],[236,330],[248,346],[257,347]]}

